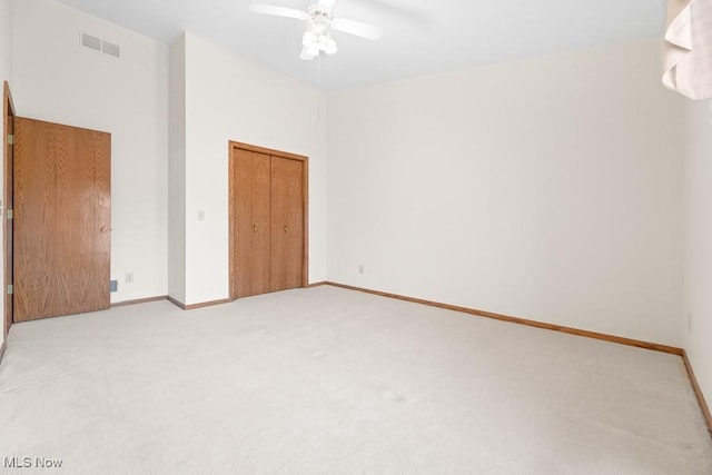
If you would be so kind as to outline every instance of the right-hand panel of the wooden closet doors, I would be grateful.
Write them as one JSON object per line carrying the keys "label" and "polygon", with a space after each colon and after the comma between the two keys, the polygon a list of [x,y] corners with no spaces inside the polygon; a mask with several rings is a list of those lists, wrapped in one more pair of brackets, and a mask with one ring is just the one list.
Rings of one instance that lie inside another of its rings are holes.
{"label": "right-hand panel of the wooden closet doors", "polygon": [[304,161],[271,157],[270,290],[303,286]]}

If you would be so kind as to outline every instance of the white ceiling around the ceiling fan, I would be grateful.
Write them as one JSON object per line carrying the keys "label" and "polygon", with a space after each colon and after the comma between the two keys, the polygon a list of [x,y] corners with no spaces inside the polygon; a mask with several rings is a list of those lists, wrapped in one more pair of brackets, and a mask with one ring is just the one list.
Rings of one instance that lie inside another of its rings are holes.
{"label": "white ceiling around the ceiling fan", "polygon": [[251,13],[249,0],[59,1],[168,44],[189,31],[325,90],[652,38],[664,18],[664,0],[338,0],[336,17],[384,34],[372,42],[335,32],[338,53],[317,65],[299,60],[305,23]]}

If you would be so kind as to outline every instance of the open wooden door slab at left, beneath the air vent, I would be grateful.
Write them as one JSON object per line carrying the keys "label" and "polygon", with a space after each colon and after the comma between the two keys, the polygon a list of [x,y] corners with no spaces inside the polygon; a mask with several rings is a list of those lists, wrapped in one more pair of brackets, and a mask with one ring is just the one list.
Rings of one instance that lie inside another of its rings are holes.
{"label": "open wooden door slab at left, beneath the air vent", "polygon": [[14,119],[14,321],[108,308],[111,136]]}

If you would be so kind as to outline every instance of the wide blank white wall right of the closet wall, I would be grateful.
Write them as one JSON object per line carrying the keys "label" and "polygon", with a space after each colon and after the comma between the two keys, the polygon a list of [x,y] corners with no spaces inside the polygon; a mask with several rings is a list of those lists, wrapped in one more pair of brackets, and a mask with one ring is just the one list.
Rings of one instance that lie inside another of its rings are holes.
{"label": "wide blank white wall right of the closet wall", "polygon": [[682,106],[659,58],[330,95],[329,280],[681,345]]}

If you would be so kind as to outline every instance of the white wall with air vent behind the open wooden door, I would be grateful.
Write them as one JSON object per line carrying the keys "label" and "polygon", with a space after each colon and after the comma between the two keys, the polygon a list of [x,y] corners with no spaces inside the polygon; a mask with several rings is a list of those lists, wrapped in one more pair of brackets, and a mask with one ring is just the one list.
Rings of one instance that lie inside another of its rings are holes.
{"label": "white wall with air vent behind the open wooden door", "polygon": [[[119,44],[121,59],[80,47],[81,31]],[[166,295],[168,47],[51,0],[16,0],[13,72],[18,115],[111,133],[111,300]]]}

